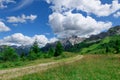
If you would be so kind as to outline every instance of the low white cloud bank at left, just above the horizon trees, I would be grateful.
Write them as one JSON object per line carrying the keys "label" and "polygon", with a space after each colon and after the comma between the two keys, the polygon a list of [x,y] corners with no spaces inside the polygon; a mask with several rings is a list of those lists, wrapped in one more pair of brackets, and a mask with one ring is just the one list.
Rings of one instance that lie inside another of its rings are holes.
{"label": "low white cloud bank at left, just above the horizon trees", "polygon": [[11,36],[4,37],[0,40],[0,45],[32,45],[35,41],[40,47],[44,47],[47,43],[56,41],[55,38],[47,39],[45,35],[35,35],[33,37],[25,36],[22,33],[15,33]]}

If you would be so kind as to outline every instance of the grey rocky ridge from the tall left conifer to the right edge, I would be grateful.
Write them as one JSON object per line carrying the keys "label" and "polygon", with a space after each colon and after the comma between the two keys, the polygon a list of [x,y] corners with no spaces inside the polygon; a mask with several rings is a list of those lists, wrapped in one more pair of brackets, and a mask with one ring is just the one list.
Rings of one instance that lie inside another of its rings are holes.
{"label": "grey rocky ridge from the tall left conifer to the right edge", "polygon": [[[69,48],[73,47],[75,44],[79,44],[79,43],[81,43],[83,41],[86,41],[88,43],[94,43],[94,42],[100,41],[101,39],[103,39],[103,38],[105,38],[107,36],[113,36],[113,35],[120,35],[120,26],[112,27],[108,31],[101,32],[98,35],[91,35],[89,38],[81,38],[81,37],[78,37],[78,36],[72,36],[72,37],[69,37],[69,38],[61,39],[60,42],[62,43],[65,50],[69,50]],[[42,49],[44,51],[46,51],[50,47],[54,48],[56,43],[57,42],[48,43]]]}

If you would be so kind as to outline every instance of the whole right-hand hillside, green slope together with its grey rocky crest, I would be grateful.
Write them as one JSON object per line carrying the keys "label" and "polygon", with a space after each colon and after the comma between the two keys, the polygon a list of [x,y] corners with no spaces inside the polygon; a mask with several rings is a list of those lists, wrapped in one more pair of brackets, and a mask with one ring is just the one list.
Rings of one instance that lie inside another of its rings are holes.
{"label": "whole right-hand hillside, green slope together with its grey rocky crest", "polygon": [[120,26],[112,27],[107,32],[92,35],[83,42],[72,46],[69,51],[84,53],[119,53]]}

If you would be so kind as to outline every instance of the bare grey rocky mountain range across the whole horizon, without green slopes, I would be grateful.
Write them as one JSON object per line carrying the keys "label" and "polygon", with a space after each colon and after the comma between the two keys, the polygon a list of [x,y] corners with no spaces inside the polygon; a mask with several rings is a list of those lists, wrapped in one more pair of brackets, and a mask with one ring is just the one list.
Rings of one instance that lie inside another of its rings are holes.
{"label": "bare grey rocky mountain range across the whole horizon, without green slopes", "polygon": [[[64,39],[60,39],[59,41],[62,43],[63,47],[65,50],[70,49],[71,47],[73,47],[75,44],[79,44],[83,41],[87,41],[89,43],[94,43],[97,42],[107,36],[113,36],[113,35],[120,35],[120,26],[115,26],[110,28],[108,31],[106,32],[102,32],[98,35],[91,35],[89,38],[81,38],[78,36],[72,36],[69,38],[64,38]],[[44,46],[43,48],[41,48],[41,50],[43,51],[48,51],[50,47],[55,48],[57,44],[57,41],[54,43],[48,43],[46,44],[46,46]],[[3,49],[5,45],[1,45],[0,46],[0,51]],[[28,53],[28,51],[30,50],[30,46],[11,46],[13,48],[16,49],[17,53],[21,54],[21,53]]]}

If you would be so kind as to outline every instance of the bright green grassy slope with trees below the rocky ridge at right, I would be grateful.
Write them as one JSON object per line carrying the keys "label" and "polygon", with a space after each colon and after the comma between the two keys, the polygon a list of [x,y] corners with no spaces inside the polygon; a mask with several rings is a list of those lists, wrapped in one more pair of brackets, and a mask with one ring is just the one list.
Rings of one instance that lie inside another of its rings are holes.
{"label": "bright green grassy slope with trees below the rocky ridge at right", "polygon": [[80,53],[120,53],[120,35],[106,37],[98,43],[94,43],[88,47],[82,48]]}

